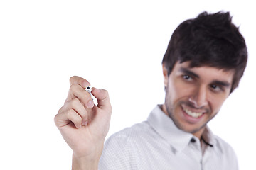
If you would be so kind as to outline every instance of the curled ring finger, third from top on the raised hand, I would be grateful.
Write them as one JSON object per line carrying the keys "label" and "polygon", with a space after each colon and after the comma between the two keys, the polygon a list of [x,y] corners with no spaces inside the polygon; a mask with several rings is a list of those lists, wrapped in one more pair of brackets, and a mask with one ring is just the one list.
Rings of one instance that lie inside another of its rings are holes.
{"label": "curled ring finger, third from top on the raised hand", "polygon": [[70,103],[68,103],[66,107],[68,108],[67,110],[73,109],[76,113],[78,113],[82,118],[82,125],[87,125],[88,114],[85,107],[82,105],[78,98],[70,101]]}

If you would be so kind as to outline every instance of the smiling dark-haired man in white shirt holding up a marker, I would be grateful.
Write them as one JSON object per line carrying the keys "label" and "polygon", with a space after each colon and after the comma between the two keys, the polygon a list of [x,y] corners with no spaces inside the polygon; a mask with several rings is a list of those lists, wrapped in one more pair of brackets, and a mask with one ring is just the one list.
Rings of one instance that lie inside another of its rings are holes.
{"label": "smiling dark-haired man in white shirt holding up a marker", "polygon": [[[201,13],[181,23],[162,62],[166,99],[149,118],[112,135],[107,91],[70,78],[55,124],[73,149],[73,169],[238,169],[235,152],[207,123],[238,86],[247,47],[229,13]],[[103,150],[103,152],[102,152]]]}

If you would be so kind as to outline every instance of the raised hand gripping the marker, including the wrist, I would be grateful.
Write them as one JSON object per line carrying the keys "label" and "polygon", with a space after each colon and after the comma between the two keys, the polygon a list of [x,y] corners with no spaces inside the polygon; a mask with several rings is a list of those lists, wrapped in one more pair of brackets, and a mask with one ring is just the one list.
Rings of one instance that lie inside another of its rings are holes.
{"label": "raised hand gripping the marker, including the wrist", "polygon": [[98,103],[95,106],[85,91],[86,86],[90,84],[85,79],[70,78],[68,97],[55,115],[55,124],[73,149],[73,163],[75,159],[75,162],[97,164],[110,127],[112,107],[107,91],[92,88]]}

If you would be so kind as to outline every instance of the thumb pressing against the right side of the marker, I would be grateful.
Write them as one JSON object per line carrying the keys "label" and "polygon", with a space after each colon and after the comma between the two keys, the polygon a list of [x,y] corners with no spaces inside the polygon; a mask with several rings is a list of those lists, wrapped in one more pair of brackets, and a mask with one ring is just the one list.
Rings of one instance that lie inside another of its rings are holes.
{"label": "thumb pressing against the right side of the marker", "polygon": [[96,89],[95,87],[92,88],[92,94],[97,98],[97,103],[99,108],[110,108],[110,97],[106,90],[104,89]]}

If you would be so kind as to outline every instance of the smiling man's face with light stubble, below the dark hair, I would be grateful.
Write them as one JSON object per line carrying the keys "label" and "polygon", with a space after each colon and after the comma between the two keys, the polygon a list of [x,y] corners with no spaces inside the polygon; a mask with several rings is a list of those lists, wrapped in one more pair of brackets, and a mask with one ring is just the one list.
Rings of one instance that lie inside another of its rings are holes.
{"label": "smiling man's face with light stubble, below the dark hair", "polygon": [[177,62],[169,76],[163,66],[166,87],[163,110],[179,129],[200,137],[228,98],[234,70],[189,67],[189,64]]}

